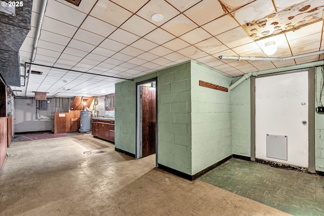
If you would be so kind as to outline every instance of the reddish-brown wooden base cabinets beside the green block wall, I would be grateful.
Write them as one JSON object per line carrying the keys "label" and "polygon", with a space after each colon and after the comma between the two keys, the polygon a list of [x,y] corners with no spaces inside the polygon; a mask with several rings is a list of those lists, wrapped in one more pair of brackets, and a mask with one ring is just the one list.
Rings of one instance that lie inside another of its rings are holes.
{"label": "reddish-brown wooden base cabinets beside the green block wall", "polygon": [[92,119],[92,135],[111,142],[115,141],[115,121]]}

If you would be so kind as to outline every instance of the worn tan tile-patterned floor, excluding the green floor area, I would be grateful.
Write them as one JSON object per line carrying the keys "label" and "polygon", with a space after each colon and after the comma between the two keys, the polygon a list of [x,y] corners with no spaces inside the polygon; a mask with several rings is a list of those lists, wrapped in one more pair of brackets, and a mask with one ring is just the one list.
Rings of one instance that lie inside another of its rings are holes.
{"label": "worn tan tile-patterned floor, excluding the green floor area", "polygon": [[83,138],[110,148],[84,154],[73,136],[14,142],[0,174],[0,215],[289,215],[162,171],[154,155],[135,160]]}

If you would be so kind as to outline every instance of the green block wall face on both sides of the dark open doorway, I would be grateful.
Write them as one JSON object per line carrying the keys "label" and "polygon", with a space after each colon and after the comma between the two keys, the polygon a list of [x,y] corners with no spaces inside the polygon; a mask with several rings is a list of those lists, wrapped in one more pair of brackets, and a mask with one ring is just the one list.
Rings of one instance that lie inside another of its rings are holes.
{"label": "green block wall face on both sides of the dark open doorway", "polygon": [[157,77],[158,163],[191,174],[190,62],[115,84],[115,147],[135,154],[136,83]]}

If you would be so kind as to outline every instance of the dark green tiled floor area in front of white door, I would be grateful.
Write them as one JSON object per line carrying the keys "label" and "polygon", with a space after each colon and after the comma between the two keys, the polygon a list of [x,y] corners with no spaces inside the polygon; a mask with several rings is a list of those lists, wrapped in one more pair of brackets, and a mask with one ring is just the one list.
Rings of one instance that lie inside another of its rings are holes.
{"label": "dark green tiled floor area in front of white door", "polygon": [[230,159],[199,178],[293,215],[324,215],[324,177]]}

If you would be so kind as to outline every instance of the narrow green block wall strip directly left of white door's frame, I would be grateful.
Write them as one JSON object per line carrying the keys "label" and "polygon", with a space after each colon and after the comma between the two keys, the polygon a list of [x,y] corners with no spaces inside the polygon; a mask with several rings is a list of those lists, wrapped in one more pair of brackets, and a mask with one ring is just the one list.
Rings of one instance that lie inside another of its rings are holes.
{"label": "narrow green block wall strip directly left of white door's frame", "polygon": [[250,79],[232,90],[232,153],[251,157]]}

